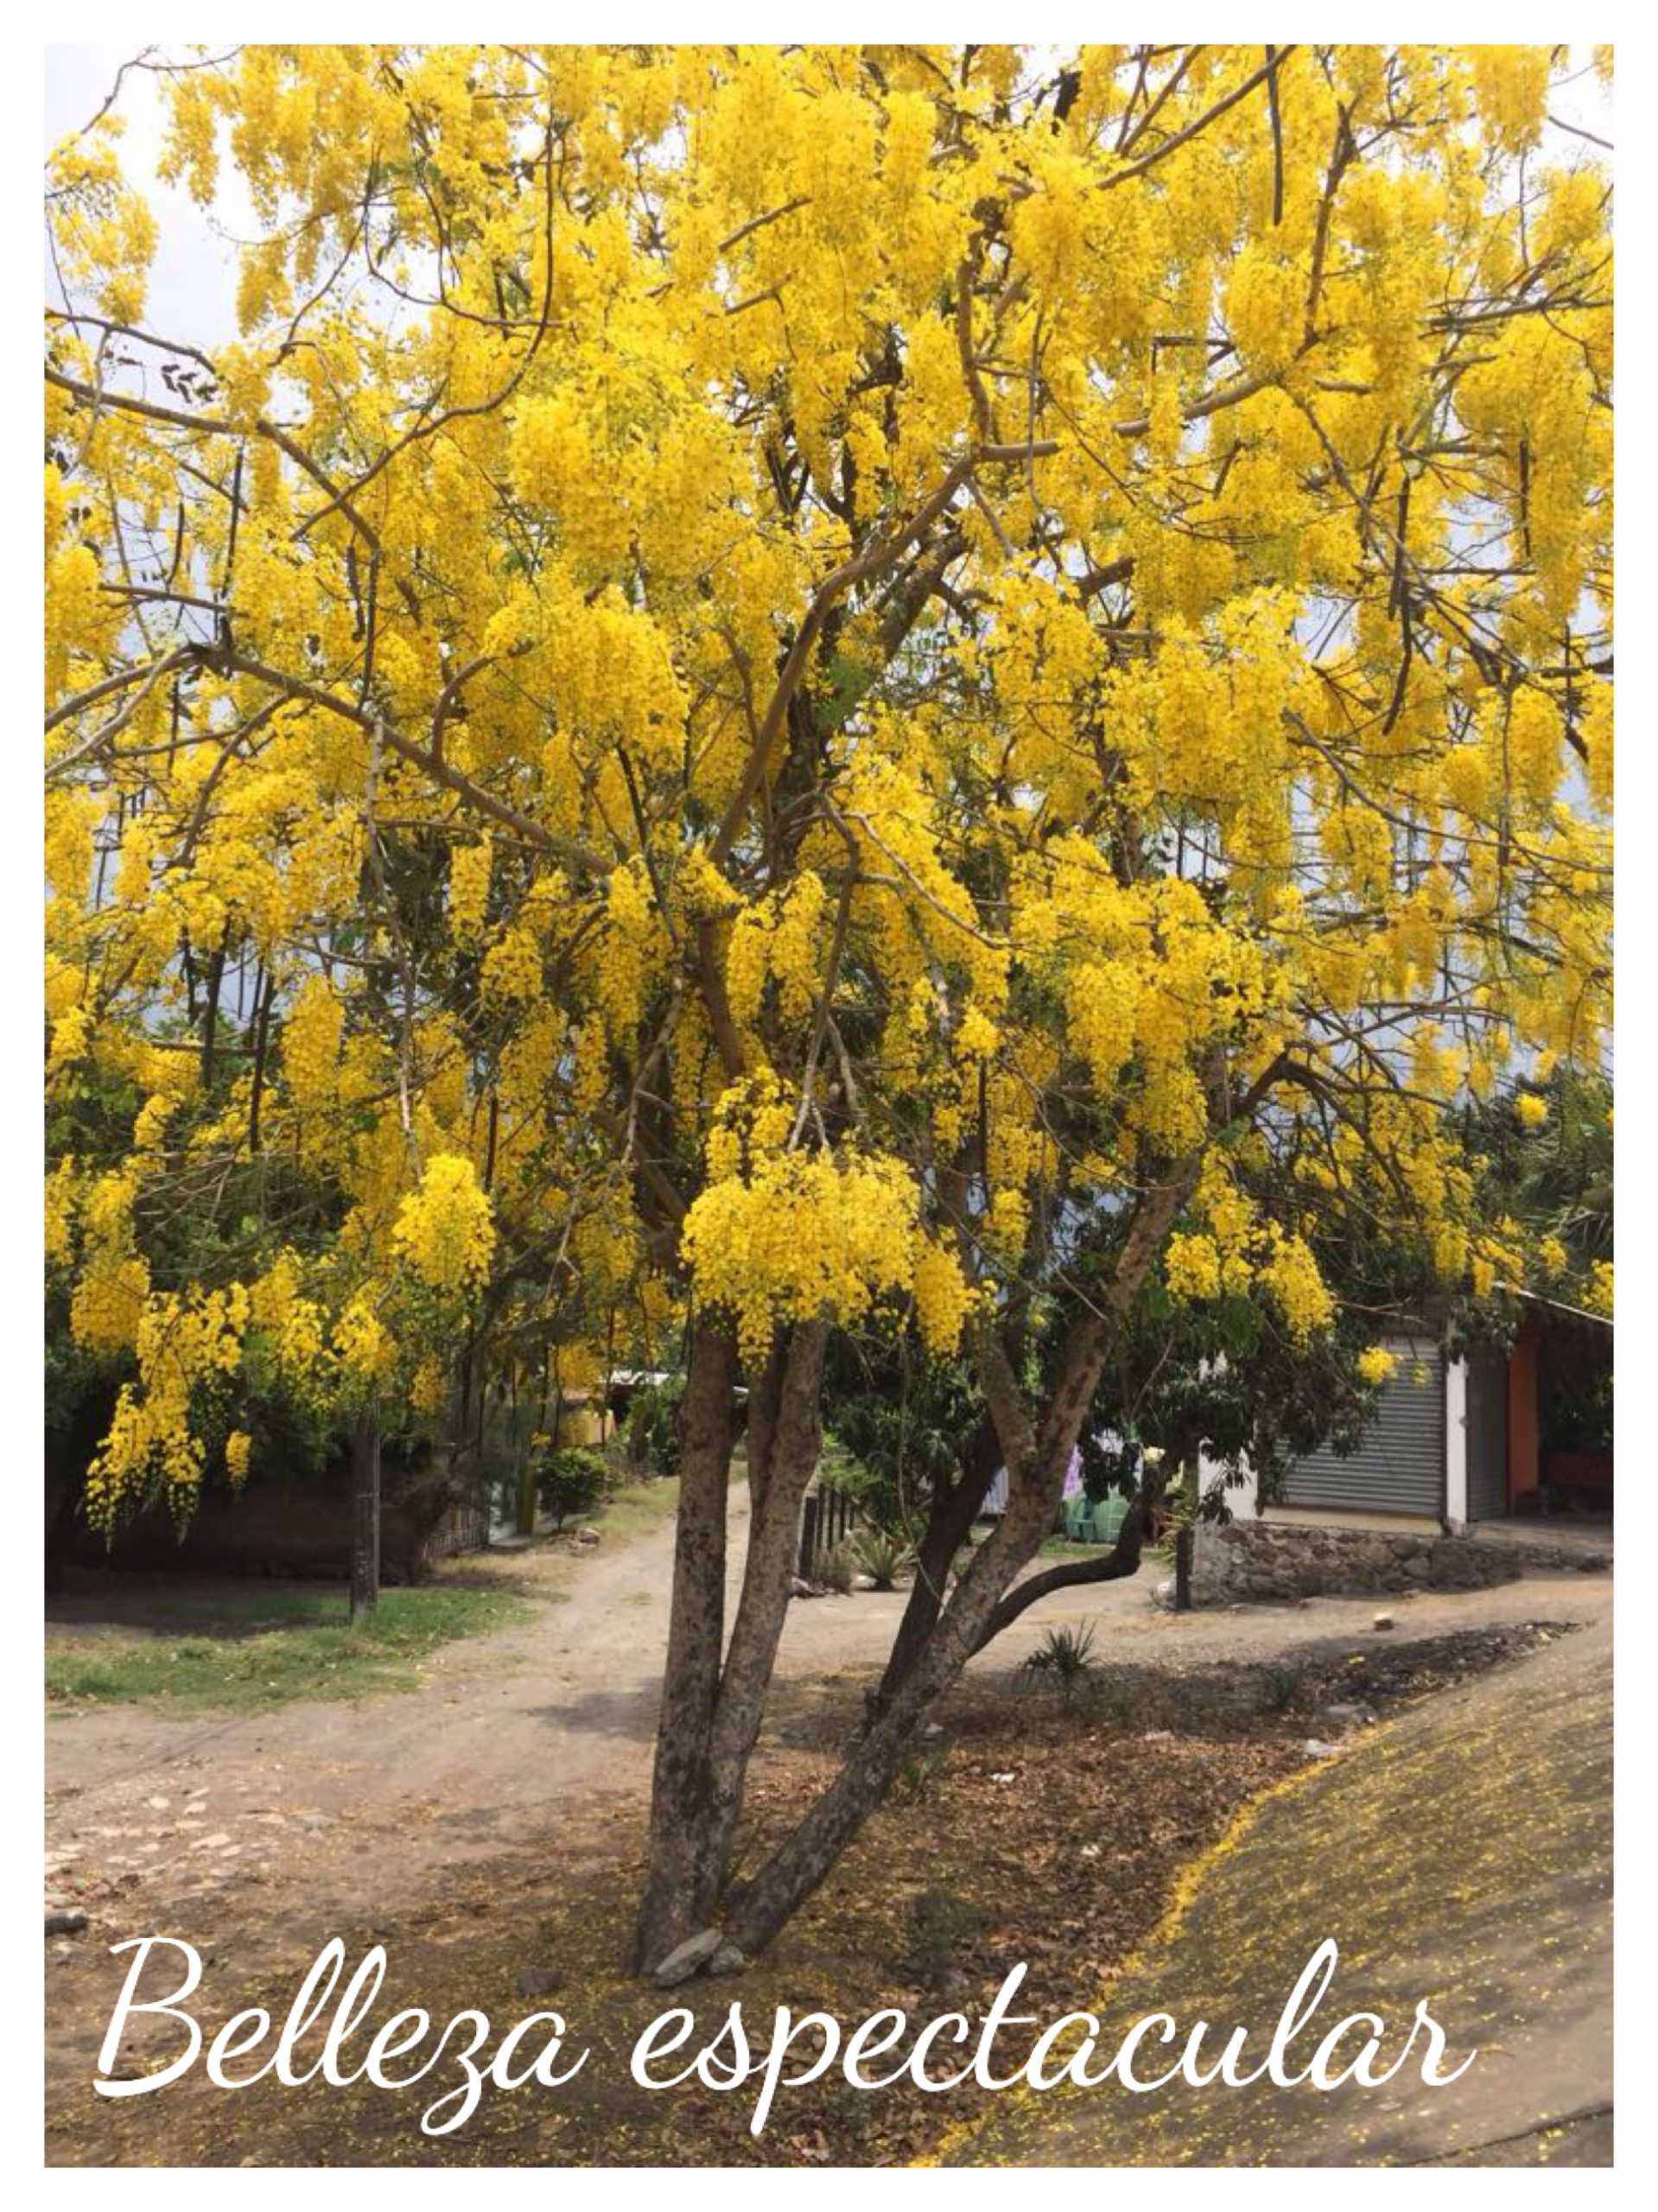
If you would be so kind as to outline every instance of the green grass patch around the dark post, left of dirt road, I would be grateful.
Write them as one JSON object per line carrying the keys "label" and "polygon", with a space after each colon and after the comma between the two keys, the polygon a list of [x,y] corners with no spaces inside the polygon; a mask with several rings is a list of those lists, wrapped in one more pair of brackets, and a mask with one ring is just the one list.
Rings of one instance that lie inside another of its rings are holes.
{"label": "green grass patch around the dark post, left of dirt road", "polygon": [[502,1590],[382,1590],[358,1628],[338,1590],[175,1595],[166,1630],[64,1639],[46,1652],[46,1697],[66,1705],[157,1701],[250,1710],[296,1697],[413,1690],[442,1644],[524,1619]]}

